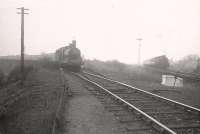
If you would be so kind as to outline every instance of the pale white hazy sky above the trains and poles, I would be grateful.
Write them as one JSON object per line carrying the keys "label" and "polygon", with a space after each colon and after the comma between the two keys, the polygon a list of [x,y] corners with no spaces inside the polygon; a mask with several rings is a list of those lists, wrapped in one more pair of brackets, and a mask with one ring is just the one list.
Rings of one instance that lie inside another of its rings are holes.
{"label": "pale white hazy sky above the trains and poles", "polygon": [[200,54],[199,0],[0,0],[0,55],[19,54],[25,15],[28,54],[54,52],[77,40],[86,58],[137,63],[161,54]]}

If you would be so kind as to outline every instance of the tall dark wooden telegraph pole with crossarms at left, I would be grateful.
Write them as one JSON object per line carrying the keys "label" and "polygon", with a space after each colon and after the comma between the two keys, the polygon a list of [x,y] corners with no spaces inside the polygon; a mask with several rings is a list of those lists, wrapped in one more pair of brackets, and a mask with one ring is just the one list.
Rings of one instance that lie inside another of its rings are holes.
{"label": "tall dark wooden telegraph pole with crossarms at left", "polygon": [[24,14],[28,14],[25,13],[25,10],[29,10],[29,9],[25,9],[24,7],[21,8],[17,8],[18,10],[20,10],[20,12],[17,12],[17,14],[21,14],[21,84],[23,84],[24,82]]}

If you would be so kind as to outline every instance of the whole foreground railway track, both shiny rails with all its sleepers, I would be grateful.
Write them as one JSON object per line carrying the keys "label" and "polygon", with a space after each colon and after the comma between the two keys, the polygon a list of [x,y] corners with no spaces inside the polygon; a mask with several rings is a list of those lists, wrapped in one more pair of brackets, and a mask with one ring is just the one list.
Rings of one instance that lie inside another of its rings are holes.
{"label": "whole foreground railway track, both shiny rails with all its sleepers", "polygon": [[99,75],[76,75],[98,87],[89,90],[119,117],[129,133],[200,133],[200,109]]}

